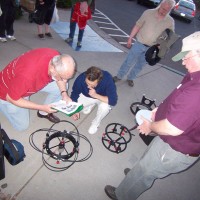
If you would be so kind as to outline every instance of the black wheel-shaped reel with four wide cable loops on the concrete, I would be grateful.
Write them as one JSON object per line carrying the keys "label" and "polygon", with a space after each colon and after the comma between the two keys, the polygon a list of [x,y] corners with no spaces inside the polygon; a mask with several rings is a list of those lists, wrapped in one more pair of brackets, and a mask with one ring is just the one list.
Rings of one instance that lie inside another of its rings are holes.
{"label": "black wheel-shaped reel with four wide cable loops on the concrete", "polygon": [[[62,123],[65,123],[65,129],[63,131],[56,130],[61,129],[59,125]],[[56,126],[58,127],[56,128]],[[46,133],[42,149],[38,148],[41,144],[35,144],[35,142],[39,143],[41,141],[40,138],[36,139],[36,137],[41,136],[41,132]],[[83,142],[86,142],[86,147],[89,145],[89,152],[81,159],[78,159],[80,139],[83,139]],[[68,169],[75,162],[86,161],[91,157],[93,152],[92,144],[88,138],[80,134],[73,123],[65,120],[53,124],[49,129],[44,128],[33,132],[29,137],[29,143],[35,150],[42,153],[42,161],[45,167],[56,172]]]}

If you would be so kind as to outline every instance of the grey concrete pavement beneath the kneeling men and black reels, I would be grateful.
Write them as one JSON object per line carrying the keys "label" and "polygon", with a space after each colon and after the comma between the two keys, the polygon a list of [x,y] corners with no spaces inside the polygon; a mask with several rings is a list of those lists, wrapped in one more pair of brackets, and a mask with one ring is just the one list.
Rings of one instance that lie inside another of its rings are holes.
{"label": "grey concrete pavement beneath the kneeling men and black reels", "polygon": [[[61,22],[69,22],[70,10],[59,10]],[[62,53],[72,55],[78,64],[77,75],[88,67],[95,65],[115,75],[127,53],[117,42],[105,35],[91,21],[91,31],[95,31],[99,37],[97,40],[112,45],[117,51],[97,51],[90,48],[90,51],[75,51],[66,44],[62,37],[52,30],[53,39],[39,40],[35,24],[28,22],[28,14],[15,22],[15,36],[17,41],[0,43],[0,69],[16,56],[30,49],[39,47],[56,48]],[[66,31],[69,31],[66,27]],[[106,44],[106,45],[108,45]],[[85,42],[83,43],[85,44]],[[84,47],[85,48],[85,47]],[[11,194],[18,200],[108,200],[104,193],[107,184],[117,186],[124,177],[123,170],[132,167],[146,149],[146,145],[138,136],[137,131],[132,131],[135,136],[127,145],[127,149],[119,154],[108,151],[102,144],[102,134],[105,127],[113,122],[118,122],[131,128],[135,120],[130,112],[130,105],[140,101],[143,94],[151,99],[160,102],[179,84],[182,76],[169,71],[159,64],[153,67],[146,66],[140,76],[135,80],[133,88],[127,82],[117,83],[118,104],[111,113],[103,120],[98,133],[89,135],[87,130],[96,114],[96,109],[89,115],[81,114],[81,119],[74,122],[71,118],[62,113],[58,116],[63,120],[73,123],[80,134],[85,136],[93,147],[92,155],[83,162],[74,163],[69,169],[63,172],[54,172],[47,169],[42,161],[42,154],[33,149],[29,143],[29,136],[38,129],[49,129],[52,124],[47,120],[37,118],[36,111],[31,111],[31,124],[28,130],[17,132],[7,119],[0,113],[0,122],[10,138],[20,141],[25,147],[26,158],[16,166],[11,166],[5,159],[6,178],[0,181],[0,185],[7,183],[8,186],[1,192]],[[70,80],[70,89],[74,79]],[[35,94],[32,101],[43,102],[44,94]],[[20,117],[20,116],[19,116]],[[68,128],[67,123],[62,123],[59,130]],[[40,149],[46,139],[46,132],[39,132],[34,137],[34,143]],[[78,160],[89,153],[89,143],[80,138]],[[47,158],[48,159],[48,158]],[[66,166],[68,163],[56,164],[56,160],[48,159],[50,164],[55,166]],[[163,180],[155,181],[153,187],[142,194],[138,200],[198,200],[200,196],[200,164],[199,162],[191,169],[176,175],[169,176]]]}

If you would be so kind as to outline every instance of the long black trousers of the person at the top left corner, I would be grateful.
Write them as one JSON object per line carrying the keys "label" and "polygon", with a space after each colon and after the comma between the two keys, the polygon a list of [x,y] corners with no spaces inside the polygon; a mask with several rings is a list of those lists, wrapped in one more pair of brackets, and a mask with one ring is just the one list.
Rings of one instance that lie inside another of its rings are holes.
{"label": "long black trousers of the person at the top left corner", "polygon": [[2,10],[3,14],[0,16],[0,37],[6,37],[6,35],[13,35],[13,24],[15,21],[15,7],[6,7]]}

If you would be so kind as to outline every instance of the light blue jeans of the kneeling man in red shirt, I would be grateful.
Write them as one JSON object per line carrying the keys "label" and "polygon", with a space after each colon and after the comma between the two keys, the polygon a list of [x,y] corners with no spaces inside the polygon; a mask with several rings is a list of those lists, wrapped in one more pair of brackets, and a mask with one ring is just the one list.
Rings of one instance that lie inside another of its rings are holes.
{"label": "light blue jeans of the kneeling man in red shirt", "polygon": [[[44,104],[50,104],[61,99],[60,90],[55,81],[49,83],[39,92],[48,93]],[[25,97],[24,99],[28,100],[29,97]],[[0,112],[6,116],[16,130],[23,131],[28,128],[30,123],[29,109],[17,107],[12,103],[0,99]]]}

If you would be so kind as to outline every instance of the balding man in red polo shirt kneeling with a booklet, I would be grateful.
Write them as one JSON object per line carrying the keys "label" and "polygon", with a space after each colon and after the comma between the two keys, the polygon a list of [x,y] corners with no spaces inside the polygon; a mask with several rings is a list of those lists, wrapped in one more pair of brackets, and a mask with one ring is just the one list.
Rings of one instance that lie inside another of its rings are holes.
{"label": "balding man in red polo shirt kneeling with a booklet", "polygon": [[[38,110],[40,118],[59,122],[50,104],[61,98],[71,101],[66,88],[75,67],[71,56],[50,48],[30,50],[15,58],[0,72],[0,112],[17,130],[29,126],[29,109]],[[48,93],[43,105],[30,101],[38,91]]]}

